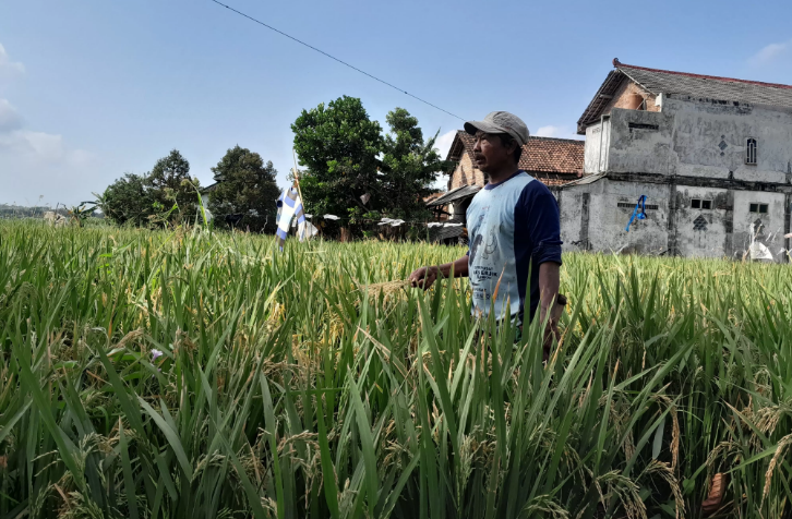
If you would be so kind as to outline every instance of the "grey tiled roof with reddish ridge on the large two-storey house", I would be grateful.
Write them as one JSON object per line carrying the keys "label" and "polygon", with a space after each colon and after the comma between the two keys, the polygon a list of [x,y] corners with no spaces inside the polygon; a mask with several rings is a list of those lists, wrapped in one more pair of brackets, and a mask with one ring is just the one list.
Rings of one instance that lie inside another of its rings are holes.
{"label": "grey tiled roof with reddish ridge on the large two-storey house", "polygon": [[605,81],[580,116],[577,122],[578,133],[586,133],[586,126],[599,122],[600,116],[625,80],[637,83],[653,95],[792,108],[792,85],[649,69],[625,64],[619,59],[613,60],[613,67],[614,70],[608,73]]}

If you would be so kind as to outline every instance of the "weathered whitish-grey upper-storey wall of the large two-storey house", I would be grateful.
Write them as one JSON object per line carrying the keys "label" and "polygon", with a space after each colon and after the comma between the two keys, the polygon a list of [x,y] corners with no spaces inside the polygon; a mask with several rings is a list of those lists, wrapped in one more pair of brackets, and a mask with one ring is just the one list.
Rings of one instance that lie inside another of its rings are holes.
{"label": "weathered whitish-grey upper-storey wall of the large two-storey house", "polygon": [[[663,96],[660,112],[614,108],[598,137],[597,128],[586,130],[586,172],[599,160],[614,172],[792,181],[792,110]],[[745,164],[748,137],[757,140],[756,165]]]}

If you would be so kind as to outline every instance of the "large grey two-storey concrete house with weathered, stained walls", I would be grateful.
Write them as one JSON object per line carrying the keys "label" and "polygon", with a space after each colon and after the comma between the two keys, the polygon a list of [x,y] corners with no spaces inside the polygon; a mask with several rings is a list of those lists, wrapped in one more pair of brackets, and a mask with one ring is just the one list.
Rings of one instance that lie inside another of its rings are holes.
{"label": "large grey two-storey concrete house with weathered, stained walls", "polygon": [[613,67],[577,124],[584,176],[556,191],[564,246],[788,261],[792,86]]}

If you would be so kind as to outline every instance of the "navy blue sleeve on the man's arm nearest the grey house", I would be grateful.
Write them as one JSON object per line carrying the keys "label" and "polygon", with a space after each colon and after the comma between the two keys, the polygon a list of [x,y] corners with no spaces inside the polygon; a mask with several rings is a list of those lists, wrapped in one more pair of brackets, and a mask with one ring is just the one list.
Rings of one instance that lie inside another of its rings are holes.
{"label": "navy blue sleeve on the man's arm nearest the grey house", "polygon": [[[517,237],[516,233],[523,236]],[[561,219],[559,204],[547,185],[538,180],[523,189],[515,208],[515,241],[530,244],[531,264],[553,262],[561,265]]]}

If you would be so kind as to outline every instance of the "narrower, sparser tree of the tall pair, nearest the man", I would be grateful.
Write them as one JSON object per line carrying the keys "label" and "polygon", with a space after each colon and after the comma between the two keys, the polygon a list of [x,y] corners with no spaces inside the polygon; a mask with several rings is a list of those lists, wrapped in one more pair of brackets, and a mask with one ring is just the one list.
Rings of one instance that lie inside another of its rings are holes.
{"label": "narrower, sparser tree of the tall pair, nearest the man", "polygon": [[388,216],[404,220],[429,217],[423,198],[432,193],[436,173],[447,165],[434,149],[437,133],[423,142],[418,119],[404,108],[388,112],[391,133],[383,143],[381,191],[388,201]]}

